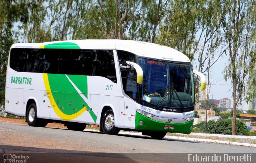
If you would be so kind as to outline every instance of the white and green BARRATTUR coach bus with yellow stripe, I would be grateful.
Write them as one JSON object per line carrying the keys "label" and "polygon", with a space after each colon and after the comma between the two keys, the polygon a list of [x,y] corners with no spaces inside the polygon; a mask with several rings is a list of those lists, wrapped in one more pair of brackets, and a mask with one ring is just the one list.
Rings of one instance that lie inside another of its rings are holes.
{"label": "white and green BARRATTUR coach bus with yellow stripe", "polygon": [[106,134],[140,131],[155,139],[190,134],[195,82],[188,57],[170,47],[128,40],[15,43],[6,74],[5,110],[29,126],[61,122]]}

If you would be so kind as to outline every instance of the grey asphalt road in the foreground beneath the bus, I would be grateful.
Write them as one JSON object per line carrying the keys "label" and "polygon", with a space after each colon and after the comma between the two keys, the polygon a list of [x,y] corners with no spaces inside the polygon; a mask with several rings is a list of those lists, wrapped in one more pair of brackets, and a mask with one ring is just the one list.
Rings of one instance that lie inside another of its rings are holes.
{"label": "grey asphalt road in the foreground beneath the bus", "polygon": [[33,153],[30,161],[34,158],[36,162],[45,162],[49,159],[51,162],[56,162],[60,158],[69,162],[72,158],[75,160],[72,162],[84,160],[84,162],[102,163],[102,160],[105,160],[148,163],[187,162],[188,153],[256,153],[256,149],[176,139],[154,140],[144,136],[122,134],[114,136],[98,132],[37,128],[0,122],[1,152]]}

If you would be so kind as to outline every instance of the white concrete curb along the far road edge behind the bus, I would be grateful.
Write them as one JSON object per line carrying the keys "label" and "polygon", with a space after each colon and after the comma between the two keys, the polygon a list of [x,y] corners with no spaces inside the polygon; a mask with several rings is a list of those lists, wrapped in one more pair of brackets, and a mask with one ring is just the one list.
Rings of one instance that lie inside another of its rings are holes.
{"label": "white concrete curb along the far road edge behind the bus", "polygon": [[[84,130],[84,131],[91,131],[91,132],[99,132],[98,130]],[[124,134],[124,135],[133,135],[133,136],[144,136],[141,133],[136,133],[136,132],[119,132],[119,134]],[[197,133],[198,134],[198,133]],[[212,135],[218,135],[218,134],[210,134]],[[200,135],[202,136],[202,135]],[[208,135],[203,135],[203,136],[208,136]],[[225,135],[224,135],[225,136]],[[150,136],[145,136],[145,137],[150,137]],[[220,144],[230,144],[230,145],[241,145],[245,147],[256,147],[256,144],[250,144],[250,143],[238,143],[238,142],[233,142],[233,141],[222,141],[222,140],[212,140],[212,139],[200,139],[200,138],[192,138],[192,137],[180,137],[180,136],[165,136],[164,138],[166,139],[178,139],[178,140],[187,140],[187,141],[198,141],[198,142],[208,142],[208,143],[220,143]],[[240,138],[240,137],[236,137]]]}

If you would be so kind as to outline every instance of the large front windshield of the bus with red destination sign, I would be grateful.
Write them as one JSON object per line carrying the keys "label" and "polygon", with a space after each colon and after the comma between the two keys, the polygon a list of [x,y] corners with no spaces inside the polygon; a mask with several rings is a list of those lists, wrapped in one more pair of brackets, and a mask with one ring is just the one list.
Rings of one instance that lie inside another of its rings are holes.
{"label": "large front windshield of the bus with red destination sign", "polygon": [[156,106],[194,106],[194,77],[191,64],[139,58],[143,70],[141,100]]}

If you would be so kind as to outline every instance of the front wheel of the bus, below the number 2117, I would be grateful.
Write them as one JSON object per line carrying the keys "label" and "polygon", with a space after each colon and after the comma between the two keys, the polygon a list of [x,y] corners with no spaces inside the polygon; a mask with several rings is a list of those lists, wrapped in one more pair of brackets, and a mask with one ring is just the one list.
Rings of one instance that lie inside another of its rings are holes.
{"label": "front wheel of the bus, below the number 2117", "polygon": [[110,135],[117,135],[120,132],[120,128],[115,127],[114,113],[111,109],[107,110],[102,117],[102,129],[105,134]]}

